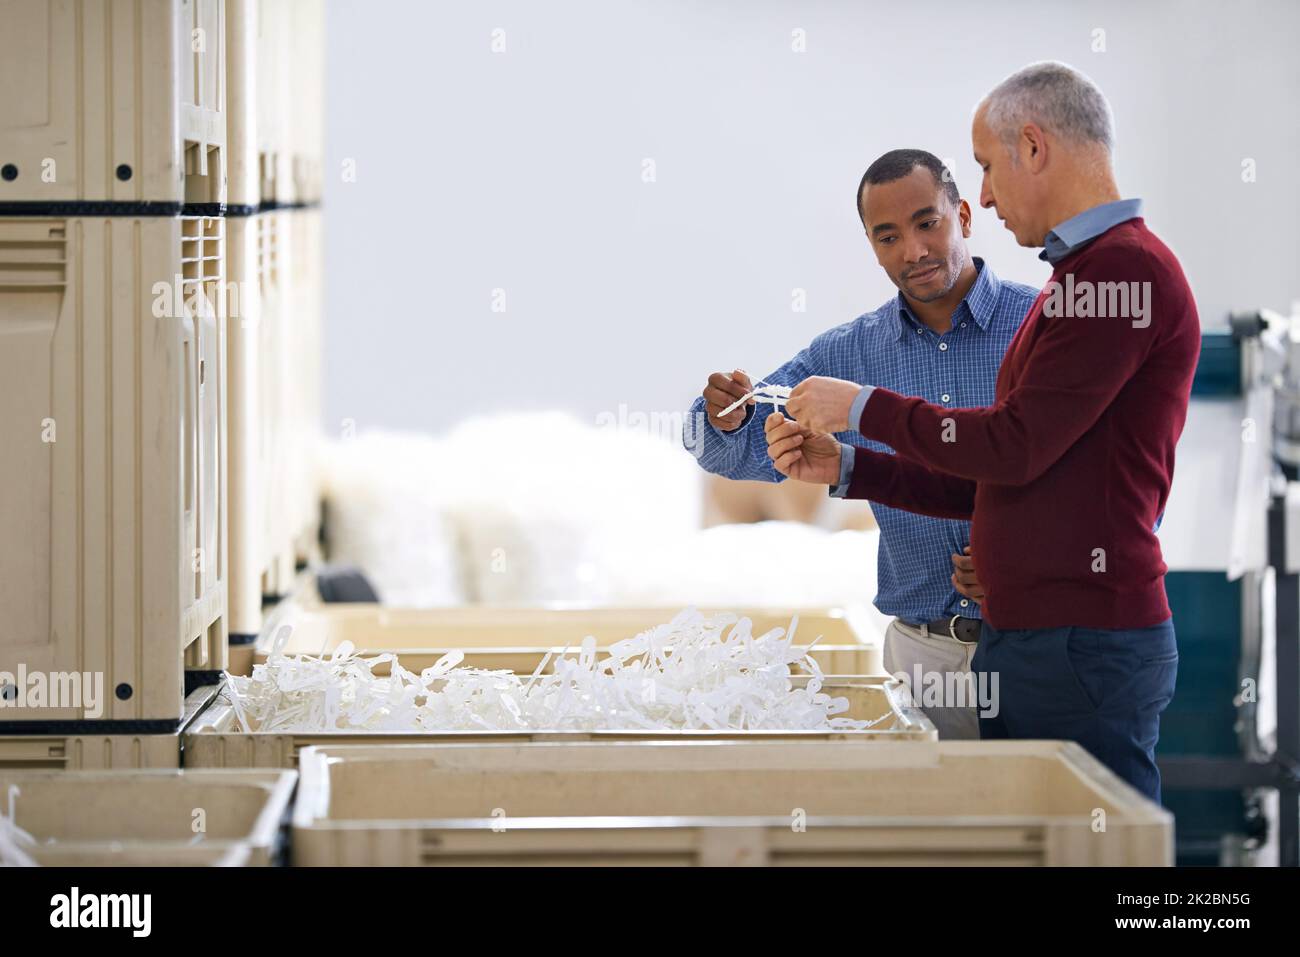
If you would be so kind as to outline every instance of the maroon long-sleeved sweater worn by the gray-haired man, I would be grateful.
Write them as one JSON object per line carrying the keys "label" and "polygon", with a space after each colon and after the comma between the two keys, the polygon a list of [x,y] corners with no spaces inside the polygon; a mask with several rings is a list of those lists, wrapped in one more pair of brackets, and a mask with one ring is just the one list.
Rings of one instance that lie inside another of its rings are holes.
{"label": "maroon long-sleeved sweater worn by the gray-haired man", "polygon": [[[1123,287],[1136,295],[1124,309],[1119,287],[1101,283],[1138,283]],[[858,430],[898,454],[857,449],[848,497],[970,519],[996,628],[1164,622],[1153,527],[1199,351],[1178,260],[1141,218],[1122,222],[1057,264],[1006,350],[992,406],[872,391]]]}

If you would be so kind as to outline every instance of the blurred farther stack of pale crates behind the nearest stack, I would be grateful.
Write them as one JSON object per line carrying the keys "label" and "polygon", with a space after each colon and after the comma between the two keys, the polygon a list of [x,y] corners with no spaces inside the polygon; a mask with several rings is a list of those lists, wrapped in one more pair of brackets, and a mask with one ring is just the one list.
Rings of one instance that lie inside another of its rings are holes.
{"label": "blurred farther stack of pale crates behind the nearest stack", "polygon": [[315,555],[320,410],[322,5],[229,0],[230,644]]}

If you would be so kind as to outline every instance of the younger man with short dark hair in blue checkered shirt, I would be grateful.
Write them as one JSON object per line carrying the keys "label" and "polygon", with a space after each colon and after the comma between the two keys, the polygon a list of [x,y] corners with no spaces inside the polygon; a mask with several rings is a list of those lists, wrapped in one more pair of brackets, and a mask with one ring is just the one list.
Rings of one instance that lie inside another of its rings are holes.
{"label": "younger man with short dark hair in blue checkered shirt", "polygon": [[[971,211],[944,164],[923,150],[893,150],[871,164],[858,186],[858,215],[880,267],[900,294],[874,312],[822,333],[762,384],[794,386],[829,376],[883,386],[952,408],[993,403],[993,385],[1011,337],[1039,290],[998,280],[966,247]],[[736,369],[715,372],[686,416],[684,443],[708,472],[736,480],[783,481],[767,454],[754,399],[723,410],[753,390]],[[707,416],[707,424],[706,424]],[[842,449],[842,497],[853,473],[853,443],[881,452],[885,445],[857,432],[836,433]],[[893,615],[884,662],[919,688],[954,672],[968,681],[979,640],[979,601],[967,550],[970,523],[933,519],[871,503],[880,525],[875,605]],[[940,677],[942,676],[942,677]],[[968,687],[974,687],[971,683]],[[927,705],[940,737],[978,739],[975,701]]]}

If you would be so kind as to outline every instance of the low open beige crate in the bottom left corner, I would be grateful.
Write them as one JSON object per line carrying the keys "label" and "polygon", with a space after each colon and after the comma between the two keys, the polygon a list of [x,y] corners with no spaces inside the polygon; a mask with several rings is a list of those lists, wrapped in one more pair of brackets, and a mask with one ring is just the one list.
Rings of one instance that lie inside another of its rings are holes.
{"label": "low open beige crate in the bottom left corner", "polygon": [[294,771],[0,771],[0,810],[13,809],[40,863],[264,867],[296,780]]}

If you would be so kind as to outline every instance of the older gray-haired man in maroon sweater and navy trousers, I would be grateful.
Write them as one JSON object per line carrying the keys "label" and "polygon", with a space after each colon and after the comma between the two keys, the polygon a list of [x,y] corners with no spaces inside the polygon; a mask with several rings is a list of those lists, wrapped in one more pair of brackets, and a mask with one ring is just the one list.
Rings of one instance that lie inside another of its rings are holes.
{"label": "older gray-haired man in maroon sweater and navy trousers", "polygon": [[807,378],[786,404],[794,421],[768,417],[768,452],[785,471],[854,426],[894,449],[855,449],[848,494],[971,519],[985,593],[971,668],[1000,689],[980,736],[1078,741],[1158,801],[1178,646],[1156,528],[1200,350],[1196,304],[1140,200],[1121,198],[1110,105],[1092,81],[1032,64],[984,98],[971,135],[980,205],[1052,264],[993,404]]}

